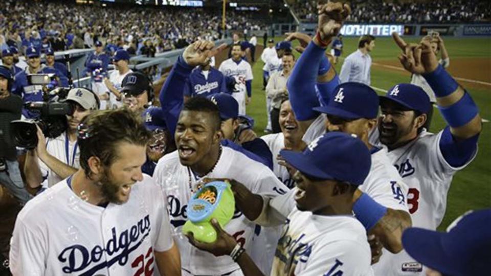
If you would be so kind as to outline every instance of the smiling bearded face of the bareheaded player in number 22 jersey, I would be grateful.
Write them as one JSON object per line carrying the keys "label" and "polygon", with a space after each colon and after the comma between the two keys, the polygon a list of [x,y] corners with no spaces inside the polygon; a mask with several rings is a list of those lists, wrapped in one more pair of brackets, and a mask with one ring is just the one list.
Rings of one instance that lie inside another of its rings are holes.
{"label": "smiling bearded face of the bareheaded player in number 22 jersey", "polygon": [[104,168],[99,178],[101,192],[109,202],[127,202],[131,187],[143,180],[141,167],[146,160],[145,149],[145,146],[127,142],[116,145],[118,156],[109,167]]}

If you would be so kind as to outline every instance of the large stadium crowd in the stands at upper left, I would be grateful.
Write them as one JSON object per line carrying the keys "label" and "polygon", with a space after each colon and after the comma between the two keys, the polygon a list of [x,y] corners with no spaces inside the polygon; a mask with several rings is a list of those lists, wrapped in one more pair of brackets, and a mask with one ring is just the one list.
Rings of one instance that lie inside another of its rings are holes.
{"label": "large stadium crowd in the stands at upper left", "polygon": [[[143,44],[148,44],[155,53],[161,53],[186,47],[197,39],[222,36],[221,13],[214,9],[101,8],[9,0],[0,3],[0,11],[0,50],[15,46],[23,53],[28,45],[61,51],[92,48],[97,40],[104,42],[109,52],[123,48],[140,54]],[[258,30],[261,24],[248,14],[227,13],[227,30]]]}

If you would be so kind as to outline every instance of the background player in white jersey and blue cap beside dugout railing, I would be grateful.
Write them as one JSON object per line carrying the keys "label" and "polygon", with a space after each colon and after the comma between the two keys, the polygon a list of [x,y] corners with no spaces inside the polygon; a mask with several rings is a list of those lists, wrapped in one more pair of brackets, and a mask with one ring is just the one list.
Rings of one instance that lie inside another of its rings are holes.
{"label": "background player in white jersey and blue cap beside dugout railing", "polygon": [[121,102],[121,82],[124,77],[133,72],[128,67],[129,54],[126,50],[118,50],[114,53],[113,64],[116,70],[109,73],[109,78],[104,78],[106,94],[101,95],[101,100],[109,100],[109,109],[119,108],[123,105]]}

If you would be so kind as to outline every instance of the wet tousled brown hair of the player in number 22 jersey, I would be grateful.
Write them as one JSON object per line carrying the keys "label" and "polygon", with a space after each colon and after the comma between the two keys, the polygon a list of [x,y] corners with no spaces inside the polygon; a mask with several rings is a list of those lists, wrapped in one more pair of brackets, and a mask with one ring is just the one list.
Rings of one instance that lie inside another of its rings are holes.
{"label": "wet tousled brown hair of the player in number 22 jersey", "polygon": [[84,117],[78,126],[80,167],[92,179],[89,158],[96,156],[104,167],[110,167],[118,157],[119,143],[145,146],[150,137],[142,117],[127,108],[94,111]]}

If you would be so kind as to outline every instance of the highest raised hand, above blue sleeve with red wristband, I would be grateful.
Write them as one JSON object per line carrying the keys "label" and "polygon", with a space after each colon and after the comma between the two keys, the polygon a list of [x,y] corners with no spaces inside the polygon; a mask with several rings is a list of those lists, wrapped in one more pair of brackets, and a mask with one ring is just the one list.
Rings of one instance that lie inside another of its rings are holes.
{"label": "highest raised hand, above blue sleeve with red wristband", "polygon": [[339,34],[344,20],[351,13],[351,8],[348,4],[329,2],[317,5],[317,9],[319,36],[324,44],[328,44],[332,37]]}

